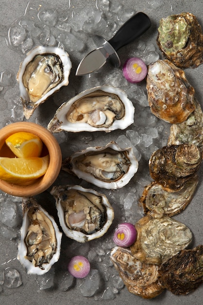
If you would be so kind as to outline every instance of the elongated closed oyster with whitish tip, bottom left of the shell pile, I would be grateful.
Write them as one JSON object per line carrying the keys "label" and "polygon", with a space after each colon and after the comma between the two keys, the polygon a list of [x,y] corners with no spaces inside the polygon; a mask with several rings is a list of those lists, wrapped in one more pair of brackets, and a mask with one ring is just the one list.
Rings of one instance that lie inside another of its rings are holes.
{"label": "elongated closed oyster with whitish tip, bottom left of the shell pile", "polygon": [[128,291],[144,299],[158,296],[163,288],[158,283],[158,266],[141,263],[127,248],[115,247],[110,259]]}

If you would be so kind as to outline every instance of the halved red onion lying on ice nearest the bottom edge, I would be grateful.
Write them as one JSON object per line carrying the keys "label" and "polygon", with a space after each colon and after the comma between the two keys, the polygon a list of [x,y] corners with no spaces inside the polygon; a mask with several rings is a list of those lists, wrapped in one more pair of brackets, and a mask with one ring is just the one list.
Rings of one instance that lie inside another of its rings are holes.
{"label": "halved red onion lying on ice nearest the bottom edge", "polygon": [[75,278],[83,279],[90,271],[89,261],[84,256],[74,256],[68,263],[68,271]]}

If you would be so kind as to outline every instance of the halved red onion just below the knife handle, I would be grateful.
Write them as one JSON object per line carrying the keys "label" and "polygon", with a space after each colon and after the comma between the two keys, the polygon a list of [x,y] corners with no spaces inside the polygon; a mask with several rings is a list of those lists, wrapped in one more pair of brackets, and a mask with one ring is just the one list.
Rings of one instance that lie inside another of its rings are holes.
{"label": "halved red onion just below the knife handle", "polygon": [[127,81],[137,83],[147,75],[147,66],[138,57],[128,58],[123,65],[123,75]]}

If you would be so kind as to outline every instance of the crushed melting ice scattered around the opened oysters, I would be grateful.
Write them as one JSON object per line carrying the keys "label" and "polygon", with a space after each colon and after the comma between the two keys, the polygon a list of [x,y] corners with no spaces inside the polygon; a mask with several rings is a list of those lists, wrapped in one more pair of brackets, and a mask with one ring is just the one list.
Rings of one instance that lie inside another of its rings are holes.
{"label": "crushed melting ice scattered around the opened oysters", "polygon": [[[157,8],[160,4],[158,0],[148,2],[153,8]],[[91,8],[80,8],[75,5],[71,9],[69,5],[69,10],[66,13],[61,11],[59,13],[55,8],[54,10],[50,7],[46,8],[45,5],[40,6],[40,3],[40,1],[35,1],[34,3],[30,1],[26,7],[25,14],[11,24],[8,30],[7,39],[9,47],[21,55],[26,54],[34,46],[43,44],[60,46],[68,51],[70,57],[73,56],[76,59],[81,59],[85,55],[84,50],[87,48],[86,34],[97,33],[106,39],[111,38],[110,35],[112,36],[132,16],[132,12],[124,10],[124,4],[112,3],[108,0],[96,0],[95,7]],[[122,18],[118,16],[120,10],[122,10]],[[150,64],[159,58],[155,44],[146,43],[141,39],[137,40],[135,48],[130,51],[129,56],[141,57],[146,64]],[[147,161],[152,152],[157,147],[160,147],[160,139],[163,143],[166,141],[162,134],[164,134],[165,130],[167,132],[167,126],[150,112],[144,84],[135,85],[128,83],[123,78],[121,69],[112,70],[108,75],[105,73],[92,74],[88,78],[84,78],[85,82],[87,82],[87,87],[89,88],[104,83],[119,87],[127,92],[129,99],[135,105],[135,123],[127,131],[114,133],[112,136],[115,137],[114,140],[121,148],[126,146],[133,147],[134,153],[140,161],[140,170],[138,170],[136,182],[131,181],[122,191],[100,190],[110,198],[109,201],[115,210],[113,225],[113,229],[115,229],[120,222],[128,221],[135,223],[141,217],[142,211],[138,207],[137,201],[144,185],[150,181]],[[4,100],[5,92],[12,88],[15,83],[15,77],[11,71],[5,70],[0,72],[0,98],[3,101],[1,105],[5,105],[5,108],[8,107],[8,103]],[[64,101],[78,92],[77,86],[77,83],[76,85],[74,83],[70,84],[66,97],[64,97],[65,89],[62,88],[57,95],[52,97],[53,103],[56,106],[60,106]],[[10,112],[11,116],[6,118],[3,122],[4,125],[23,120],[18,96],[13,99]],[[43,118],[36,117],[34,120],[36,123],[47,127]],[[112,139],[111,136],[104,135],[103,133],[99,135],[99,138],[100,136],[102,141],[104,137],[108,137],[109,141]],[[94,143],[94,146],[98,145],[98,135],[95,136],[89,133],[77,134],[77,136],[69,133],[59,133],[55,134],[55,137],[61,145],[63,154],[75,152],[78,148],[78,143],[84,147],[92,146],[92,143]],[[64,181],[64,175],[62,180]],[[89,187],[85,181],[81,184],[83,187]],[[6,205],[4,202],[6,202]],[[15,199],[15,197],[5,194],[0,196],[0,233],[3,238],[14,240],[19,238],[19,219],[22,219],[19,202],[19,198]],[[86,244],[80,245],[75,241],[70,241],[68,246],[66,246],[62,243],[61,269],[58,270],[52,267],[47,274],[37,276],[37,289],[44,290],[53,287],[54,279],[57,278],[57,288],[59,290],[67,291],[70,287],[75,287],[78,288],[77,291],[84,297],[94,296],[95,300],[100,301],[114,299],[124,286],[109,259],[109,252],[114,246],[112,232],[107,232],[104,238]],[[88,257],[90,264],[94,263],[94,268],[91,269],[91,272],[85,279],[76,280],[70,276],[66,269],[67,261],[71,255],[80,254]],[[17,270],[8,270],[8,268],[6,270],[4,277],[0,278],[1,285],[4,283],[6,287],[20,286],[21,280]]]}

